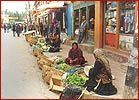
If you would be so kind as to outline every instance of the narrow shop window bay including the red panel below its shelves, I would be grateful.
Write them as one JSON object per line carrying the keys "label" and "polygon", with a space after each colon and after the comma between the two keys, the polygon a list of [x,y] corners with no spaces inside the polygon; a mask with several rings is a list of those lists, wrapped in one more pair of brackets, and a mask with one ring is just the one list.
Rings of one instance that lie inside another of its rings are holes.
{"label": "narrow shop window bay including the red panel below its shelves", "polygon": [[105,45],[116,47],[117,2],[106,2],[105,6]]}

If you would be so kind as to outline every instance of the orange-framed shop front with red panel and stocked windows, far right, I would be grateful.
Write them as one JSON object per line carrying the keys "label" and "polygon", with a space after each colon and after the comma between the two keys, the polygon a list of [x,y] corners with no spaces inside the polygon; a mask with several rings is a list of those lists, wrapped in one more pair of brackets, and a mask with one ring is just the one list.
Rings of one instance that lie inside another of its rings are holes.
{"label": "orange-framed shop front with red panel and stocked windows, far right", "polygon": [[137,2],[104,2],[102,47],[129,54],[137,23]]}

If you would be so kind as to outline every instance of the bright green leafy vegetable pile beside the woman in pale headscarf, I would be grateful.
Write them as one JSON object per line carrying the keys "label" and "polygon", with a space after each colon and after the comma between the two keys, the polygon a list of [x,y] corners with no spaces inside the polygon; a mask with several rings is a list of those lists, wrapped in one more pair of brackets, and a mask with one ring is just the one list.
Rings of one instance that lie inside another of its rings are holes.
{"label": "bright green leafy vegetable pile beside the woman in pale headscarf", "polygon": [[86,80],[88,80],[86,76],[83,76],[75,72],[75,73],[69,73],[67,75],[65,83],[68,85],[75,84],[77,86],[83,87]]}

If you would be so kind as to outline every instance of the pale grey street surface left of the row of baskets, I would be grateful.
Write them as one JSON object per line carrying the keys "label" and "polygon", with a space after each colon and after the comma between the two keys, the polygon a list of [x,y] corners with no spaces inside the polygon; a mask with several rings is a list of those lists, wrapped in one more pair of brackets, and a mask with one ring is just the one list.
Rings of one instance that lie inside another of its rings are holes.
{"label": "pale grey street surface left of the row of baskets", "polygon": [[36,58],[24,37],[2,35],[2,98],[51,98],[57,95],[47,91]]}

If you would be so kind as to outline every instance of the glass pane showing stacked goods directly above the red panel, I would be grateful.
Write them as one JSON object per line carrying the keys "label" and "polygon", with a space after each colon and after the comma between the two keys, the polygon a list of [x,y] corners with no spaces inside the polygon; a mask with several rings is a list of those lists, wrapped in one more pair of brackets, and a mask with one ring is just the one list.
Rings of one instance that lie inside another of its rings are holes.
{"label": "glass pane showing stacked goods directly above the red panel", "polygon": [[117,2],[106,3],[106,13],[105,13],[106,33],[116,33],[116,8],[117,8]]}

